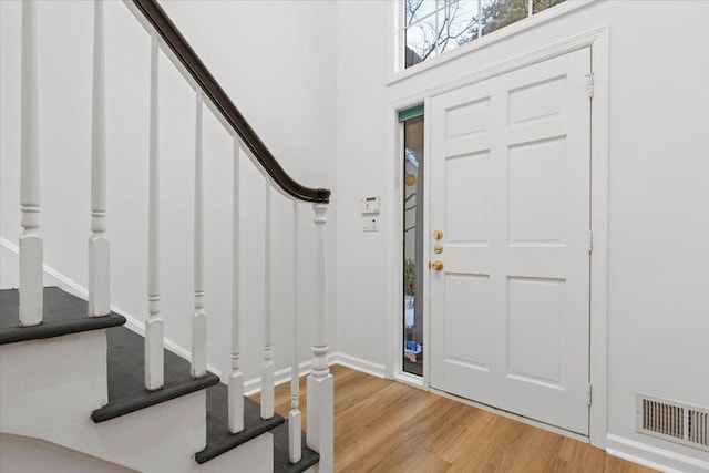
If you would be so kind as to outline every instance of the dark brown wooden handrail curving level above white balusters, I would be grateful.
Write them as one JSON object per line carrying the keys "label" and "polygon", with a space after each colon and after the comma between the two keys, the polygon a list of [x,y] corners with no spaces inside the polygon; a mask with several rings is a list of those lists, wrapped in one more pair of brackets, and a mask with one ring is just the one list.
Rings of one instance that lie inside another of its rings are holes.
{"label": "dark brown wooden handrail curving level above white balusters", "polygon": [[306,187],[286,173],[157,1],[133,0],[133,3],[155,28],[157,34],[185,66],[197,86],[202,89],[204,94],[209,97],[214,106],[222,113],[224,120],[238,134],[244,145],[248,147],[261,167],[268,173],[274,184],[295,199],[318,204],[329,203],[329,189]]}

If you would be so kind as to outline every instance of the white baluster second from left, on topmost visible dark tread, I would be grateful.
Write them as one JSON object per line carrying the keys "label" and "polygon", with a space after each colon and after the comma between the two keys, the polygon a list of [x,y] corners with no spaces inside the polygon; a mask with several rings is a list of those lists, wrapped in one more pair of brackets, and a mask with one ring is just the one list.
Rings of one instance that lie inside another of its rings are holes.
{"label": "white baluster second from left, on topmost visible dark tread", "polygon": [[94,1],[93,102],[91,109],[91,237],[89,238],[89,317],[111,312],[111,246],[106,238],[106,127],[103,0]]}

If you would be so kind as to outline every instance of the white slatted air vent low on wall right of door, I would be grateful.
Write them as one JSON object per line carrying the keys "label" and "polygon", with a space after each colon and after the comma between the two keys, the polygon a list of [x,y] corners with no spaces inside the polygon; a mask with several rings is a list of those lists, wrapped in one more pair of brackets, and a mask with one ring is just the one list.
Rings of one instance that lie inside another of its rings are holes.
{"label": "white slatted air vent low on wall right of door", "polygon": [[637,394],[636,414],[638,432],[709,452],[709,409]]}

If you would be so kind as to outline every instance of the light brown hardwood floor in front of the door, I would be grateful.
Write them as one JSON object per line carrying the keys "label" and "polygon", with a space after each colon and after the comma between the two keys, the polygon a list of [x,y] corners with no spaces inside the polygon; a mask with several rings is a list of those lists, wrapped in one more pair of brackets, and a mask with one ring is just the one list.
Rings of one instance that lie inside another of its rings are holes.
{"label": "light brown hardwood floor in front of the door", "polygon": [[[331,370],[337,472],[654,471],[586,443],[399,382],[341,366]],[[276,411],[286,418],[289,389],[289,384],[276,388]],[[305,405],[302,397],[304,411]]]}

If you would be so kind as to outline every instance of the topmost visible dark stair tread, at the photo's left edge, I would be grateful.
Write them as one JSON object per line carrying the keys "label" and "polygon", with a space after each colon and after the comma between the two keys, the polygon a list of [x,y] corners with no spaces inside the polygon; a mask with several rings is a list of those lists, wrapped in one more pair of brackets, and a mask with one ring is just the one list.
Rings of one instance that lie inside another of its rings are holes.
{"label": "topmost visible dark stair tread, at the photo's left edge", "polygon": [[103,317],[89,317],[85,300],[58,287],[45,287],[42,323],[20,327],[19,301],[18,289],[0,290],[0,345],[62,337],[125,323],[125,317],[114,312]]}

